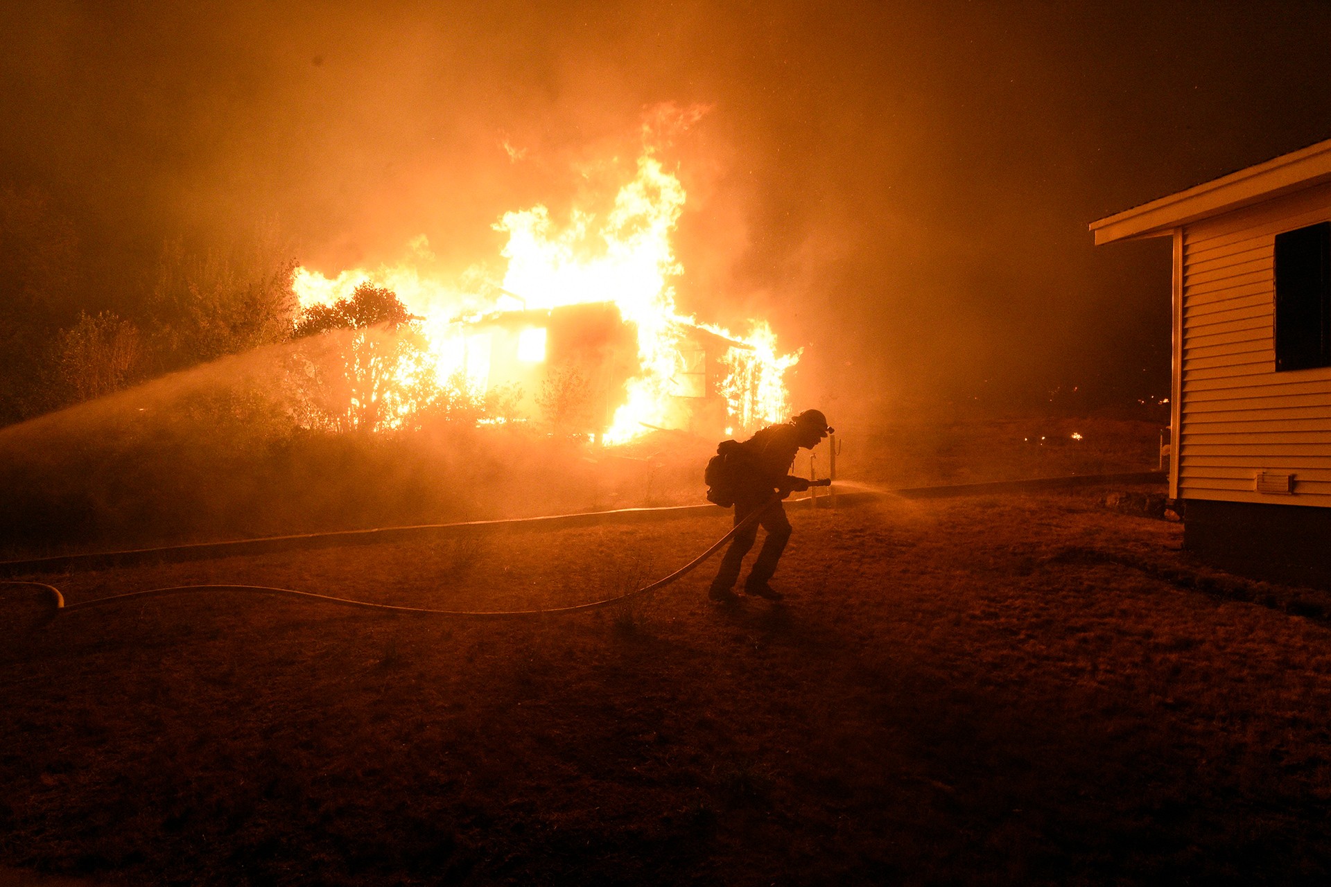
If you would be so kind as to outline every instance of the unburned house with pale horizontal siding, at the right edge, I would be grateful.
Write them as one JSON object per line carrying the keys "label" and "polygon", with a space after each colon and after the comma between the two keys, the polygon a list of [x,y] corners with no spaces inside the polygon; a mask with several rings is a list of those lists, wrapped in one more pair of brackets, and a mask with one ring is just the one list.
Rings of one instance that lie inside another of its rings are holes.
{"label": "unburned house with pale horizontal siding, at the right edge", "polygon": [[1169,237],[1185,545],[1331,580],[1331,140],[1090,225]]}

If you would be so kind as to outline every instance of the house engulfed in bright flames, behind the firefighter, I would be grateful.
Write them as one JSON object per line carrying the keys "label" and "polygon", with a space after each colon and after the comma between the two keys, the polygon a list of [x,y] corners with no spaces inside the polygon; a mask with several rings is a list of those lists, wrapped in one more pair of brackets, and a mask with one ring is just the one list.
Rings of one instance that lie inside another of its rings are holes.
{"label": "house engulfed in bright flames, behind the firefighter", "polygon": [[366,282],[391,290],[419,323],[441,384],[506,387],[519,392],[526,418],[602,443],[654,428],[715,438],[779,422],[799,352],[781,354],[764,320],[737,335],[676,306],[683,269],[671,233],[683,205],[679,180],[648,152],[608,211],[574,211],[564,226],[544,206],[506,213],[495,229],[508,235],[507,267],[479,294],[410,263],[331,278],[302,267],[294,289],[302,309]]}

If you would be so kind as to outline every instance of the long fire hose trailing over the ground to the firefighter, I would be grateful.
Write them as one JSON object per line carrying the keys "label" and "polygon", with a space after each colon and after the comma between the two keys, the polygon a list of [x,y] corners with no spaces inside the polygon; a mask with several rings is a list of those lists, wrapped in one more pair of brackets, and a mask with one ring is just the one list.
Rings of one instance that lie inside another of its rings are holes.
{"label": "long fire hose trailing over the ground to the firefighter", "polygon": [[[815,485],[827,485],[827,481],[813,481]],[[700,567],[708,557],[715,555],[721,549],[725,543],[735,537],[735,533],[752,525],[763,517],[763,513],[771,508],[773,504],[783,499],[781,492],[772,493],[761,508],[755,508],[751,515],[740,520],[731,532],[716,540],[707,551],[691,560],[689,563],[680,567],[677,570],[666,576],[663,578],[644,585],[642,588],[634,589],[626,594],[619,594],[616,597],[608,597],[600,601],[591,601],[588,604],[574,604],[571,606],[552,606],[544,609],[530,609],[530,610],[445,610],[434,609],[426,606],[399,606],[395,604],[371,604],[370,601],[357,601],[347,597],[333,597],[330,594],[315,594],[314,592],[299,592],[291,588],[273,588],[269,585],[236,585],[236,584],[221,584],[221,585],[170,585],[166,588],[152,588],[142,592],[128,592],[125,594],[110,594],[108,597],[97,597],[91,601],[80,601],[79,604],[65,604],[65,596],[60,593],[60,589],[55,585],[48,585],[45,582],[31,582],[20,580],[0,580],[0,585],[27,585],[33,588],[47,589],[49,593],[51,616],[48,618],[55,618],[61,613],[72,613],[75,610],[89,609],[93,606],[106,606],[110,604],[118,604],[121,601],[129,600],[145,600],[149,597],[161,597],[165,594],[182,594],[186,592],[257,592],[260,594],[277,594],[286,597],[295,597],[305,601],[314,601],[322,604],[331,604],[335,606],[353,606],[357,609],[367,610],[381,610],[390,613],[415,613],[421,616],[451,616],[457,618],[506,618],[506,617],[530,617],[530,616],[559,616],[564,613],[583,613],[587,610],[598,610],[606,606],[614,606],[615,604],[623,604],[648,592],[655,592],[658,589],[666,588],[671,582],[675,582],[693,569]]]}

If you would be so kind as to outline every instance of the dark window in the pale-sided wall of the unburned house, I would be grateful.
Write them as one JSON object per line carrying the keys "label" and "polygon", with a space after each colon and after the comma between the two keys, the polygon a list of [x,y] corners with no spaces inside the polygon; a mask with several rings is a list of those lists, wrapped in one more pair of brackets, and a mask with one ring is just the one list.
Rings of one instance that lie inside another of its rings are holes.
{"label": "dark window in the pale-sided wall of the unburned house", "polygon": [[1331,222],[1275,235],[1275,368],[1331,366]]}

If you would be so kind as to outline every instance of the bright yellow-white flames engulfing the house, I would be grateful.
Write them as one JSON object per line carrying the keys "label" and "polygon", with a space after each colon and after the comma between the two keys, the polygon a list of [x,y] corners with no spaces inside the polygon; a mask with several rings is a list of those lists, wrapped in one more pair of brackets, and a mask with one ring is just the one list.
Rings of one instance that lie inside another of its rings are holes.
{"label": "bright yellow-white flames engulfing the house", "polygon": [[[700,323],[676,307],[672,281],[683,267],[671,233],[684,201],[679,178],[648,150],[604,217],[575,209],[566,225],[556,225],[542,205],[504,213],[495,223],[508,235],[502,250],[507,261],[503,279],[499,285],[469,287],[484,295],[423,275],[410,262],[373,271],[343,270],[333,278],[299,267],[294,290],[302,310],[345,299],[363,282],[393,290],[417,318],[438,384],[461,383],[478,392],[492,383],[490,338],[476,331],[478,320],[494,313],[610,303],[636,330],[639,366],[626,383],[624,402],[604,430],[606,443],[624,443],[652,427],[677,426],[677,376],[684,371],[680,344],[689,327],[731,342],[720,358],[727,375],[717,391],[725,400],[727,434],[779,422],[789,411],[784,378],[799,360],[799,351],[781,354],[764,320],[751,322],[749,334],[740,336]],[[427,247],[423,237],[411,242],[421,258],[429,257]],[[520,359],[544,359],[544,335],[535,327],[524,330]]]}

